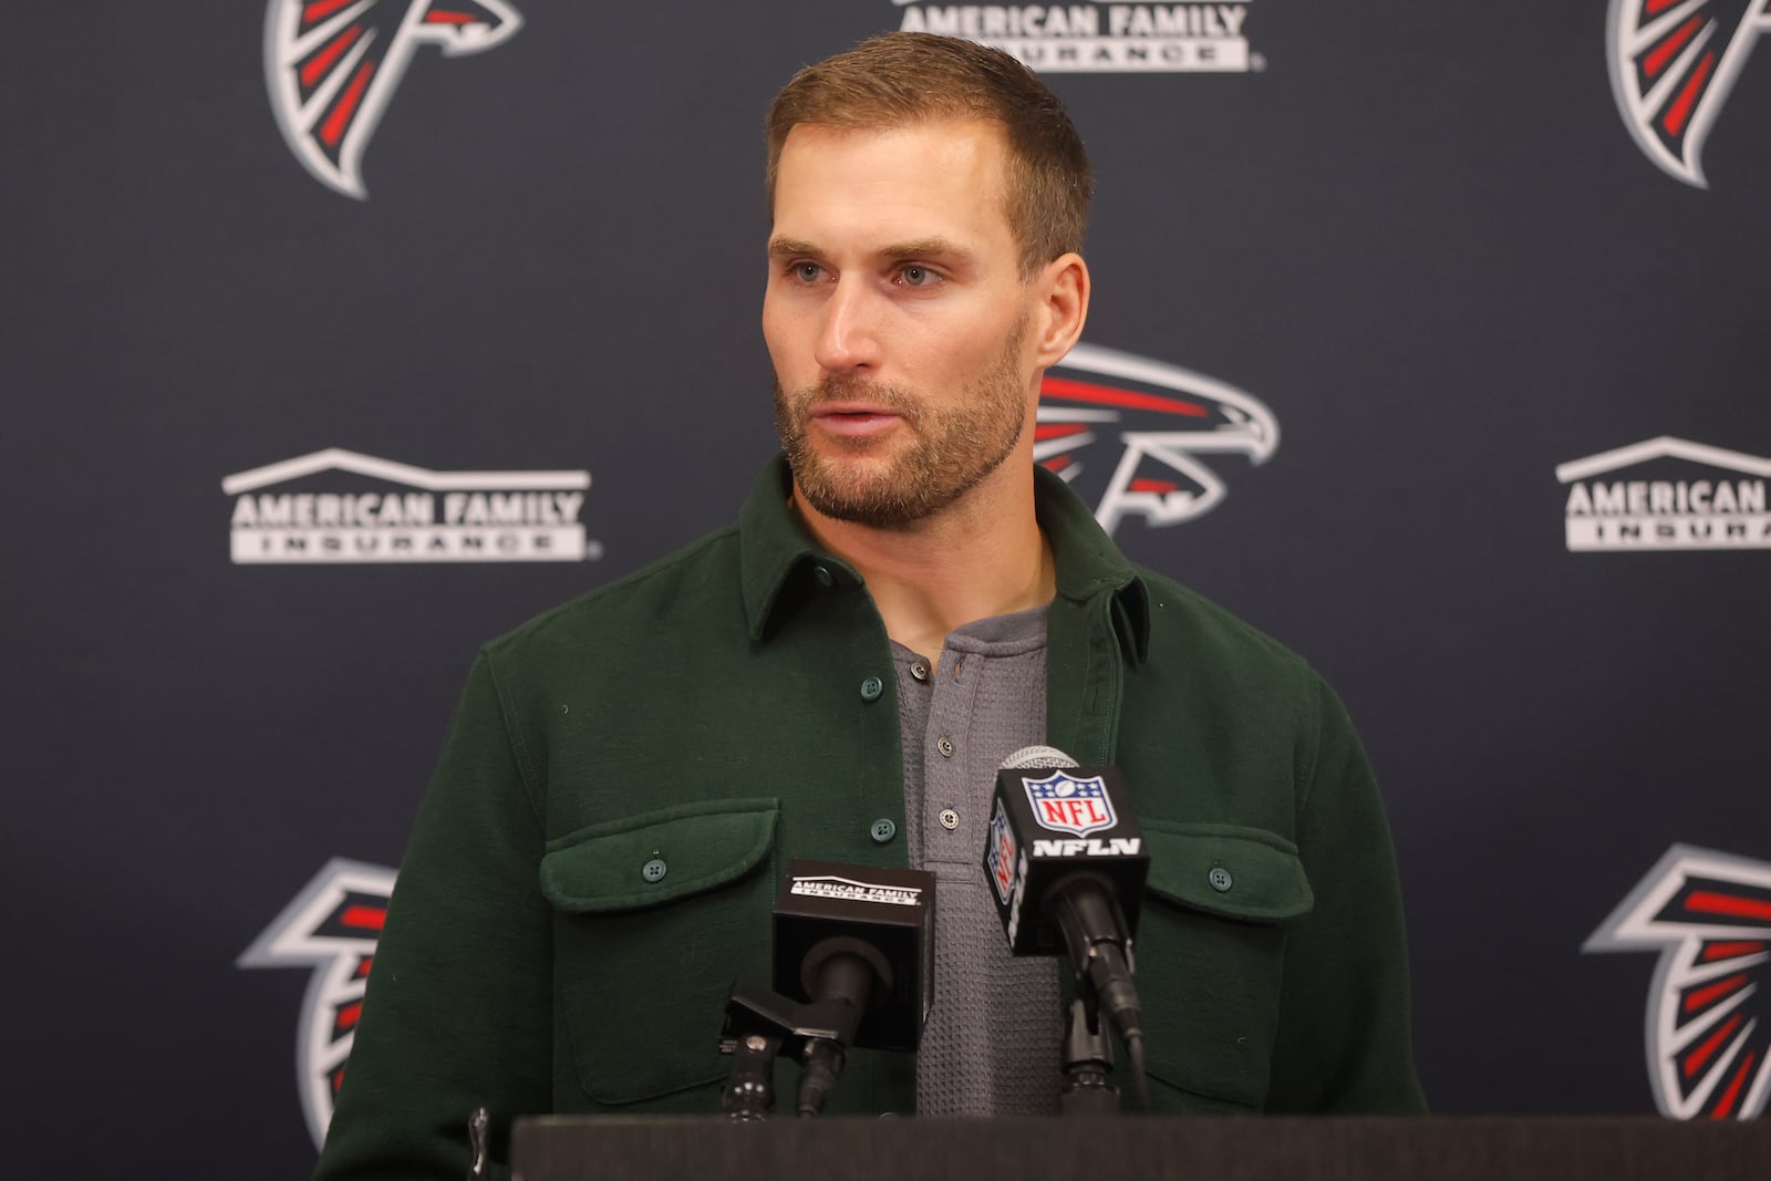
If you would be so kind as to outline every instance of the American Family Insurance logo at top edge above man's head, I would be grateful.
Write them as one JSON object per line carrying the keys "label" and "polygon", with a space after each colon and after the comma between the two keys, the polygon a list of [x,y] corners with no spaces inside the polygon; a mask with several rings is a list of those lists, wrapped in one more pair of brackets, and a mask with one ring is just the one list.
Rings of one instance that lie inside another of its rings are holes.
{"label": "American Family Insurance logo at top edge above man's head", "polygon": [[965,37],[1041,74],[1245,74],[1266,69],[1249,48],[1245,4],[923,4],[893,0],[905,32]]}

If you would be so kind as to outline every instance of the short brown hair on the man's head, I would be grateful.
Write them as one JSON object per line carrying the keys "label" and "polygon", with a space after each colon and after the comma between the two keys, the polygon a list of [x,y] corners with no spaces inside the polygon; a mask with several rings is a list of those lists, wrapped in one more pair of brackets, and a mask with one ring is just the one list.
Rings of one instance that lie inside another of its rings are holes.
{"label": "short brown hair on the man's head", "polygon": [[932,119],[994,119],[1008,129],[1008,214],[1020,269],[1082,250],[1094,174],[1070,113],[1008,53],[960,37],[893,32],[808,66],[769,108],[769,207],[781,145],[799,124],[898,127]]}

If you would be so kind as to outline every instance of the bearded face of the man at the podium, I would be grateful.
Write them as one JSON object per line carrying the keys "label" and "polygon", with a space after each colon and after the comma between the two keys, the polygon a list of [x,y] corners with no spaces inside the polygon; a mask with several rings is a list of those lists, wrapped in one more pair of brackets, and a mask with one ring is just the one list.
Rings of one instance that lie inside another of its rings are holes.
{"label": "bearded face of the man at the podium", "polygon": [[1006,182],[992,122],[788,133],[763,336],[781,446],[818,512],[921,521],[1017,452],[1036,391]]}

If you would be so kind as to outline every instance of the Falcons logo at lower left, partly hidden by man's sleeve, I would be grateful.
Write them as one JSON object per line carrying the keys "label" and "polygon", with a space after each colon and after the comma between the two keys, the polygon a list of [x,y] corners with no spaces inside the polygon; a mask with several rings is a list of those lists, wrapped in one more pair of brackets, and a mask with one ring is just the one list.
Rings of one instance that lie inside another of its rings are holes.
{"label": "Falcons logo at lower left, partly hidden by man's sleeve", "polygon": [[335,857],[237,961],[243,969],[313,969],[296,1027],[296,1082],[313,1147],[326,1142],[391,894],[393,869]]}

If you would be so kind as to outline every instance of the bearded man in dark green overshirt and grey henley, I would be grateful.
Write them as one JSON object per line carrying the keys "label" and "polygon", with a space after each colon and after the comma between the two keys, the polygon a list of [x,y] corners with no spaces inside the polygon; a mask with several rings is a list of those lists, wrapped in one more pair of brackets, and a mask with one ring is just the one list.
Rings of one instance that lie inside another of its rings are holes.
{"label": "bearded man in dark green overshirt and grey henley", "polygon": [[735,528],[482,652],[319,1176],[459,1177],[478,1105],[715,1112],[793,857],[939,878],[923,1052],[852,1054],[829,1110],[1056,1110],[1057,963],[1008,956],[979,869],[994,770],[1034,742],[1135,793],[1155,1110],[1419,1110],[1341,705],[1032,464],[1089,305],[1057,99],[992,50],[877,37],[781,92],[769,181],[785,462]]}

